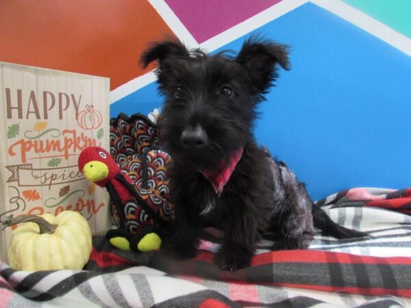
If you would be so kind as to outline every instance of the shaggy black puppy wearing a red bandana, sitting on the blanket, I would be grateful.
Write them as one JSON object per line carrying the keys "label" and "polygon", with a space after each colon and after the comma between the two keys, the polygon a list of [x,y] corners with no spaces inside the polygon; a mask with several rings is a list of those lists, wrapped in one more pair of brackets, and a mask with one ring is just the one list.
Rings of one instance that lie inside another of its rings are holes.
{"label": "shaggy black puppy wearing a red bandana, sitting on the blanket", "polygon": [[199,233],[209,225],[224,231],[215,259],[223,270],[248,266],[262,231],[281,235],[273,249],[307,248],[314,227],[336,238],[364,236],[334,223],[253,138],[256,107],[277,78],[277,65],[289,68],[286,46],[250,39],[230,57],[188,51],[169,39],[152,44],[141,60],[145,67],[158,60],[166,98],[160,139],[173,159],[175,203],[166,253],[195,257]]}

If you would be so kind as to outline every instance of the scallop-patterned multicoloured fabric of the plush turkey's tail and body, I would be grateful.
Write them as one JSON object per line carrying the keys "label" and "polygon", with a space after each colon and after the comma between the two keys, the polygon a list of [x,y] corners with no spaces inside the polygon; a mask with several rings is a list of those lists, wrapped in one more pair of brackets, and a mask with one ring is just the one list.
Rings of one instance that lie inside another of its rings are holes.
{"label": "scallop-patterned multicoloured fabric of the plush turkey's tail and body", "polygon": [[[110,120],[110,154],[121,172],[131,179],[137,194],[158,216],[170,220],[173,205],[169,201],[166,169],[171,158],[162,151],[158,132],[158,125],[142,114],[119,114]],[[121,226],[121,215],[112,203],[116,226]],[[138,234],[154,224],[153,218],[135,198],[124,202],[123,215],[125,229],[132,234]]]}

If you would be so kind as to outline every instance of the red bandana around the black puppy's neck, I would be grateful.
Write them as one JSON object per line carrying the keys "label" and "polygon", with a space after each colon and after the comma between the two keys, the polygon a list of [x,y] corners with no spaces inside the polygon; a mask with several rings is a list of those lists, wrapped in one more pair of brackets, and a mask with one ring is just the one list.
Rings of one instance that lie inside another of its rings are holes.
{"label": "red bandana around the black puppy's neck", "polygon": [[241,159],[241,156],[242,149],[239,149],[235,151],[229,158],[228,164],[227,162],[223,161],[215,170],[199,170],[199,172],[201,172],[201,174],[206,177],[208,181],[210,181],[212,187],[214,188],[214,191],[219,196],[221,195],[221,192],[223,192],[223,188],[234,172],[237,163]]}

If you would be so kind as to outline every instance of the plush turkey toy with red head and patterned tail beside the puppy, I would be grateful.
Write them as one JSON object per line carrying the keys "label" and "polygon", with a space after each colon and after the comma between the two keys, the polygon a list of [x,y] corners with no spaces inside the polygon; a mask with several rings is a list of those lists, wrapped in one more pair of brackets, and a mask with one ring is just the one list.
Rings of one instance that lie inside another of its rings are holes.
{"label": "plush turkey toy with red head and patterned tail beside the puppy", "polygon": [[84,149],[78,166],[86,179],[108,190],[117,229],[106,238],[122,250],[160,248],[162,229],[172,218],[166,166],[169,155],[158,147],[158,129],[145,116],[120,114],[110,120],[110,153]]}

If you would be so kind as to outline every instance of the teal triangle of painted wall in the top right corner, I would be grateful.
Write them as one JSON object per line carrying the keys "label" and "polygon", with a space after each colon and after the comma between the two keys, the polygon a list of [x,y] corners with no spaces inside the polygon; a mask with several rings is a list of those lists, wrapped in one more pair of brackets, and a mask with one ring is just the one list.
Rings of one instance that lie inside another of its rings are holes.
{"label": "teal triangle of painted wall in the top right corner", "polygon": [[411,0],[343,0],[411,38]]}

